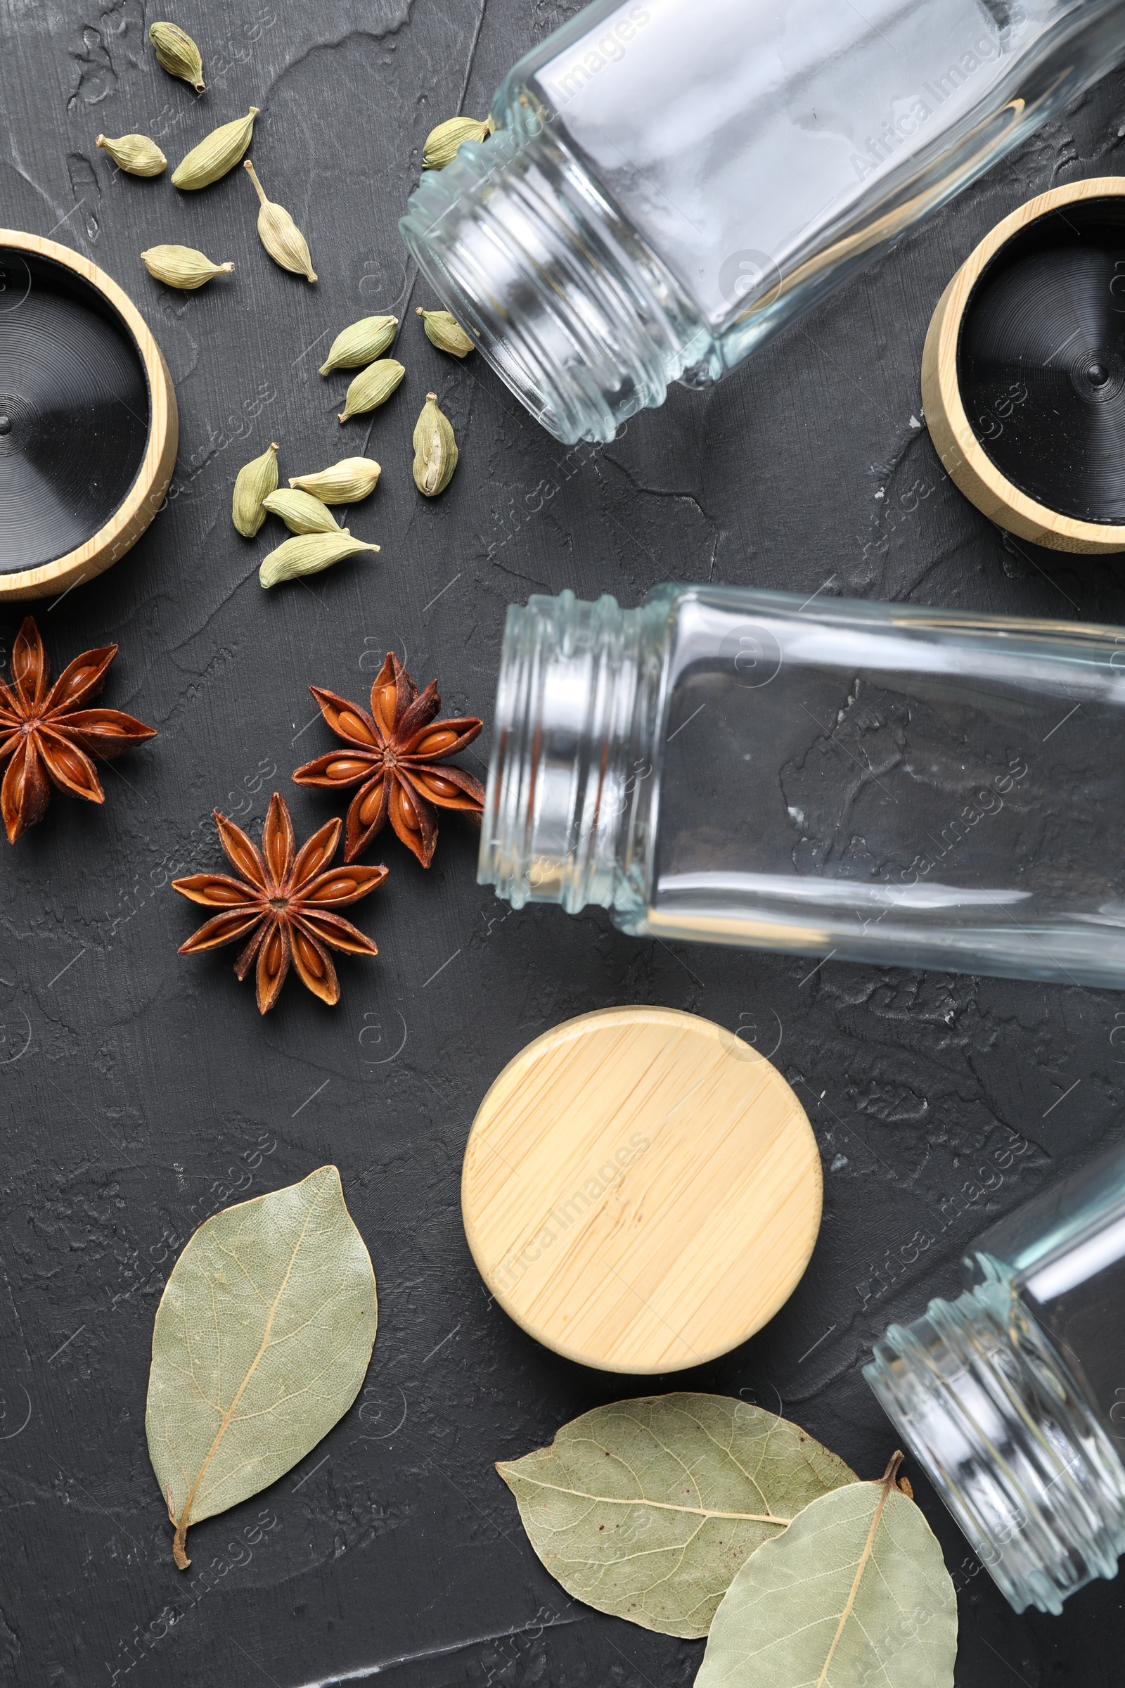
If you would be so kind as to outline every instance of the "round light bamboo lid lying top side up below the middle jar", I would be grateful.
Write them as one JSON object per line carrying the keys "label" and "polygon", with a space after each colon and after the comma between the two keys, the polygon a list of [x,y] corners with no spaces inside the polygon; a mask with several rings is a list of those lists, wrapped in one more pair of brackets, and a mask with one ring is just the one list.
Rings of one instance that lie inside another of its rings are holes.
{"label": "round light bamboo lid lying top side up below the middle jar", "polygon": [[528,1043],[477,1109],[460,1185],[504,1312],[617,1372],[700,1366],[772,1318],[813,1252],[821,1193],[781,1074],[673,1008],[580,1014]]}

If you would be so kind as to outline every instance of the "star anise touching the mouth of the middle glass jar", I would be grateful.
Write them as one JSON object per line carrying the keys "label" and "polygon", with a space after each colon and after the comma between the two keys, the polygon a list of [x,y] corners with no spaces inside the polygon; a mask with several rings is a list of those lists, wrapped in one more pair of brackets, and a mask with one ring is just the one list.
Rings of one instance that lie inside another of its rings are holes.
{"label": "star anise touching the mouth of the middle glass jar", "polygon": [[388,817],[423,868],[433,859],[439,809],[462,809],[479,822],[484,787],[476,775],[447,763],[472,744],[484,722],[476,716],[435,721],[442,707],[437,680],[430,680],[420,694],[395,652],[388,650],[371,687],[371,714],[319,685],[309,690],[347,749],[332,749],[307,761],[297,768],[293,780],[331,792],[359,787],[347,807],[344,861],[354,861]]}

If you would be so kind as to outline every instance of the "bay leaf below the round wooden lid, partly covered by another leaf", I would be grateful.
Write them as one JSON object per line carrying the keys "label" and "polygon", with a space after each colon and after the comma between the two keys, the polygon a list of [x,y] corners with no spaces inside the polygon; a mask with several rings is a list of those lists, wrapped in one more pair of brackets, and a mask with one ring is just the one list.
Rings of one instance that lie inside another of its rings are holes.
{"label": "bay leaf below the round wooden lid, partly covered by another leaf", "polygon": [[859,1480],[798,1425],[690,1393],[595,1406],[496,1470],[567,1593],[670,1636],[705,1636],[744,1560]]}

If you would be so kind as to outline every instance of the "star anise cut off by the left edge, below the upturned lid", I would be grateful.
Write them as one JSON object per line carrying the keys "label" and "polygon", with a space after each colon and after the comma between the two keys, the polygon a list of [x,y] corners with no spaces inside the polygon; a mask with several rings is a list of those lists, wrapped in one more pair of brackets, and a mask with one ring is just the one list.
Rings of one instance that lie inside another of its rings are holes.
{"label": "star anise cut off by the left edge, below the upturned lid", "polygon": [[105,685],[116,645],[86,650],[51,685],[51,663],[32,616],[12,647],[12,685],[0,680],[0,761],[10,758],[0,787],[8,844],[47,812],[51,782],[61,792],[105,803],[91,756],[106,761],[157,729],[120,709],[79,709]]}

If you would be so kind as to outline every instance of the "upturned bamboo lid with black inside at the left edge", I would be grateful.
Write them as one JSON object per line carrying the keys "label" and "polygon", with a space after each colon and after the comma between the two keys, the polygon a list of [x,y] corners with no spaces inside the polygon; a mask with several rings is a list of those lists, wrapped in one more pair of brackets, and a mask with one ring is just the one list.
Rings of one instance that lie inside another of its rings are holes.
{"label": "upturned bamboo lid with black inside at the left edge", "polygon": [[0,601],[123,557],[164,503],[177,436],[167,365],[116,282],[0,230]]}

